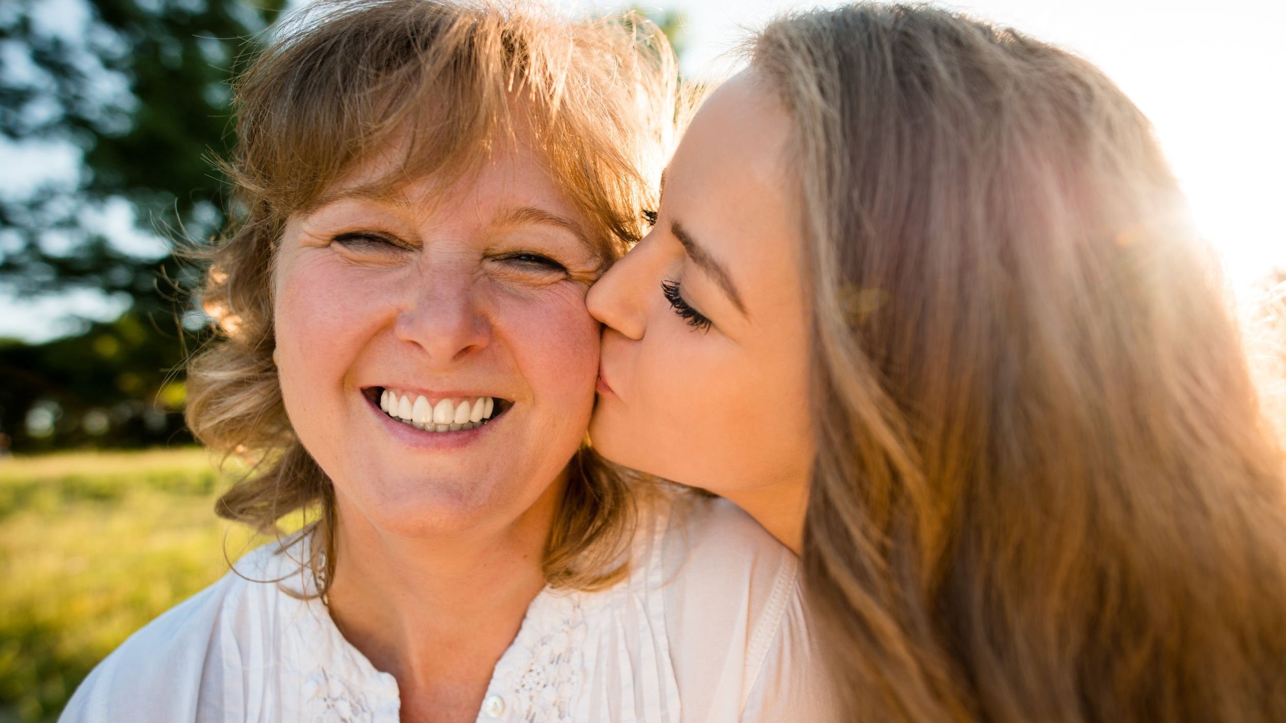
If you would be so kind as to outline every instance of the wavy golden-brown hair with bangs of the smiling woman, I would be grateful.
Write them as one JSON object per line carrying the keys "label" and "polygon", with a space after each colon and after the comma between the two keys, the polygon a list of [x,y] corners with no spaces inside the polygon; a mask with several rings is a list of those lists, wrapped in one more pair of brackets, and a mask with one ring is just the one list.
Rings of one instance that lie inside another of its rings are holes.
{"label": "wavy golden-brown hair with bangs of the smiling woman", "polygon": [[[331,481],[294,436],[273,363],[271,270],[287,217],[374,153],[404,151],[373,185],[449,183],[521,133],[581,212],[610,262],[643,232],[673,135],[674,54],[647,19],[572,22],[521,3],[323,0],[294,15],[235,85],[225,170],[238,219],[189,250],[210,262],[199,298],[217,322],[188,367],[193,434],[251,472],[219,515],[267,534],[311,511],[309,565],[333,571]],[[568,467],[544,571],[561,587],[619,574],[631,493],[585,449]]]}

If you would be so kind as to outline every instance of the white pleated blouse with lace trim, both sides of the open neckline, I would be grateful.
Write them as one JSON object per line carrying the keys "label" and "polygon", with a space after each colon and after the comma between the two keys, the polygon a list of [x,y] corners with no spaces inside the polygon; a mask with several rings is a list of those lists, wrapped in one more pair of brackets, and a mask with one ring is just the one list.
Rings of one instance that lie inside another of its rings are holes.
{"label": "white pleated blouse with lace trim, both sides of the open neckline", "polygon": [[[258,548],[135,633],[60,720],[399,723],[394,677],[283,592],[306,578],[300,545]],[[795,557],[732,503],[678,495],[640,513],[625,580],[536,596],[477,720],[822,720],[818,673]]]}

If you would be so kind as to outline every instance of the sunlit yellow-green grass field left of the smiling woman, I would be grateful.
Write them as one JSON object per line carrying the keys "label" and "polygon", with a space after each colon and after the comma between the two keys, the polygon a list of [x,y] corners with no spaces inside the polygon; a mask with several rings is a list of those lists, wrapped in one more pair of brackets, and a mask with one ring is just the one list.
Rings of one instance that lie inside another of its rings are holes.
{"label": "sunlit yellow-green grass field left of the smiling woman", "polygon": [[0,723],[54,720],[134,630],[256,544],[197,448],[0,458]]}

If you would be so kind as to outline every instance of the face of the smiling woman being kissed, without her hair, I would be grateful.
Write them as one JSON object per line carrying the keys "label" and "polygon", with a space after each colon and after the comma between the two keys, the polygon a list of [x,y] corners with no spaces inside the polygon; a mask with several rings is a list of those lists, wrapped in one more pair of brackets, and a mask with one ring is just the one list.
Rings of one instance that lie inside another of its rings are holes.
{"label": "face of the smiling woman being kissed, without her hair", "polygon": [[[584,214],[520,133],[448,188],[423,176],[352,193],[400,165],[406,149],[391,148],[285,223],[273,274],[282,395],[341,517],[351,504],[383,529],[462,534],[507,508],[545,515],[536,499],[559,494],[549,480],[593,405],[585,289],[611,251],[571,230]],[[378,404],[386,391],[396,414]],[[487,423],[464,430],[486,400]],[[613,524],[620,512],[598,515]]]}

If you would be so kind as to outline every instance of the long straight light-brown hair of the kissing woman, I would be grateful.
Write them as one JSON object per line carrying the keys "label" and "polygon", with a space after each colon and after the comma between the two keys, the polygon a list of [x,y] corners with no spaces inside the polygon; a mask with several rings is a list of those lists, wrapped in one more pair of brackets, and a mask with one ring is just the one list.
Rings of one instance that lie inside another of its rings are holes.
{"label": "long straight light-brown hair of the kissing woman", "polygon": [[1282,457],[1142,113],[925,6],[790,15],[802,562],[846,720],[1286,720]]}

